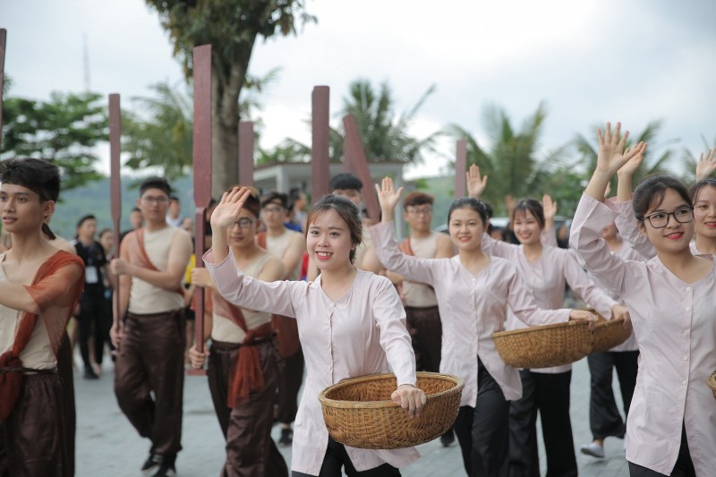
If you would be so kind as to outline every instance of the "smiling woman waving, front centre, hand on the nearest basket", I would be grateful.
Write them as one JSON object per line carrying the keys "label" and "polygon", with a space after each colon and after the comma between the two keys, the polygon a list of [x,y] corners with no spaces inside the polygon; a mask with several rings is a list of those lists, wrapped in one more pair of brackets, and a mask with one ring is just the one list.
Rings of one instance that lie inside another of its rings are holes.
{"label": "smiling woman waving, front centre, hand on the nearest basket", "polygon": [[311,210],[306,245],[321,270],[310,283],[267,283],[245,277],[226,243],[226,229],[241,216],[249,192],[234,188],[211,216],[212,250],[204,256],[218,291],[228,302],[297,319],[307,376],[296,415],[294,477],[400,475],[396,467],[419,457],[413,447],[367,450],[344,447],[329,439],[318,395],[342,379],[388,372],[397,378],[393,400],[419,415],[426,398],[415,388],[415,357],[405,329],[405,311],[388,278],[357,270],[355,247],[361,243],[358,208],[350,200],[328,195]]}

